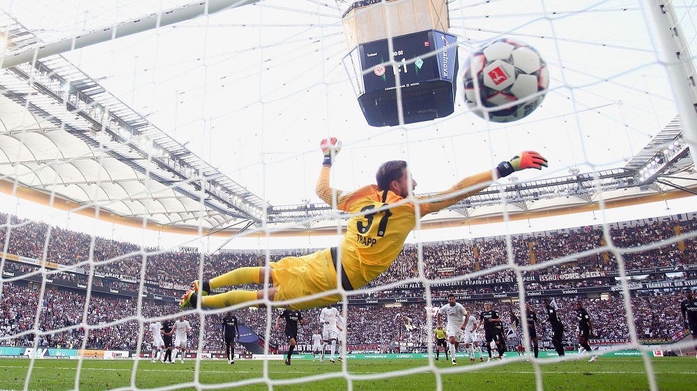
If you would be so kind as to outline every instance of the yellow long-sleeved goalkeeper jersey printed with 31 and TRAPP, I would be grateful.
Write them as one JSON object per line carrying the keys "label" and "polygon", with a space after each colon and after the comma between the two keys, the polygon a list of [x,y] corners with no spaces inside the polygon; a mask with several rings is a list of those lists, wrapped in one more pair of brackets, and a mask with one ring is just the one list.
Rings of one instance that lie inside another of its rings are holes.
{"label": "yellow long-sleeved goalkeeper jersey printed with 31 and TRAPP", "polygon": [[[377,185],[363,186],[350,193],[329,186],[330,167],[323,166],[317,181],[317,195],[332,205],[334,194],[337,208],[359,214],[348,220],[342,238],[341,260],[346,277],[353,289],[372,281],[395,261],[407,235],[416,225],[417,206],[392,191],[382,191]],[[491,171],[467,177],[452,188],[432,196],[416,197],[419,217],[456,204],[491,184]]]}

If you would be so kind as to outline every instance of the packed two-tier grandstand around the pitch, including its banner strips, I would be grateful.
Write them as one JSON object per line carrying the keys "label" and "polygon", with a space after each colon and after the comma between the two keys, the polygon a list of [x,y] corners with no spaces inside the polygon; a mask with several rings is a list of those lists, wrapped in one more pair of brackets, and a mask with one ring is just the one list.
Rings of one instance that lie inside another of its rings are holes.
{"label": "packed two-tier grandstand around the pitch, including its banner strips", "polygon": [[[206,277],[210,277],[212,271],[266,262],[263,252],[239,251],[209,256],[193,248],[139,248],[135,244],[92,238],[7,214],[0,215],[0,224],[11,227],[0,231],[0,243],[6,245],[0,269],[3,278],[11,281],[3,282],[0,291],[0,345],[33,346],[37,305],[40,305],[38,346],[75,346],[77,349],[86,338],[88,349],[134,350],[139,335],[147,329],[148,319],[174,319],[180,312],[176,300],[187,289],[191,276],[197,275],[199,262],[205,262]],[[618,248],[666,241],[663,246],[652,250],[630,251],[622,255],[632,294],[636,330],[645,344],[674,342],[687,333],[679,303],[682,288],[697,285],[697,239],[675,241],[671,238],[694,231],[696,227],[697,213],[614,223],[608,227],[613,244]],[[544,314],[542,296],[555,298],[558,313],[567,326],[565,340],[569,346],[576,341],[574,305],[579,299],[595,319],[599,345],[629,341],[627,315],[618,288],[617,255],[605,250],[605,244],[599,226],[512,237],[512,254],[517,265],[553,261],[547,267],[524,272],[523,278],[528,301],[538,314]],[[294,252],[306,251],[298,249]],[[359,290],[348,297],[351,308],[347,314],[349,350],[425,349],[429,343],[427,330],[434,324],[426,323],[424,285],[408,282],[392,289],[376,289],[417,276],[416,252],[415,246],[405,246],[390,269],[362,289],[371,292]],[[282,254],[272,252],[270,260],[288,253],[288,250]],[[556,262],[574,255],[568,262]],[[518,287],[512,271],[497,271],[456,282],[441,281],[506,264],[504,237],[425,243],[422,244],[422,256],[434,305],[445,303],[447,294],[451,292],[457,296],[457,301],[475,313],[482,309],[484,301],[493,301],[505,324],[510,325],[510,314],[518,312],[518,304],[514,302],[518,298]],[[143,289],[140,290],[142,264],[146,267]],[[43,281],[46,283],[45,295],[38,303]],[[89,308],[85,310],[90,281]],[[137,320],[139,296],[143,300],[140,319],[145,323]],[[395,319],[398,313],[410,317],[411,324]],[[237,310],[235,315],[243,326],[264,339],[266,310]],[[275,317],[276,312],[272,315]],[[316,320],[319,309],[306,310],[303,316],[309,321],[300,327],[299,343],[301,348],[309,349],[302,344],[309,344],[312,333],[319,327]],[[128,318],[132,320],[121,321]],[[198,330],[201,318],[188,318],[194,330]],[[221,319],[219,314],[205,316],[203,349],[220,349]],[[82,324],[89,325],[87,335]],[[521,330],[516,331],[520,335]],[[547,346],[547,333],[541,335],[542,346]],[[483,334],[480,340],[484,340]],[[144,342],[148,341],[144,338]],[[270,344],[282,349],[283,341],[282,330],[271,328]],[[198,346],[201,343],[199,333],[194,331],[190,342],[192,347]],[[514,339],[509,342],[515,343]]]}

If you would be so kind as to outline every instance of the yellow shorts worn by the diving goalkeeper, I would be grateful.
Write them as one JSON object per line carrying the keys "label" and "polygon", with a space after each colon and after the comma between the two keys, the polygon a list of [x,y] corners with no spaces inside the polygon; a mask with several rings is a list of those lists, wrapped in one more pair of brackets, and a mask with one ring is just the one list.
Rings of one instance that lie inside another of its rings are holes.
{"label": "yellow shorts worn by the diving goalkeeper", "polygon": [[[273,301],[293,300],[336,289],[337,271],[332,264],[330,251],[326,248],[302,257],[285,257],[278,262],[270,262],[273,285],[277,287]],[[289,304],[288,308],[305,310],[341,300],[340,294],[328,294]]]}

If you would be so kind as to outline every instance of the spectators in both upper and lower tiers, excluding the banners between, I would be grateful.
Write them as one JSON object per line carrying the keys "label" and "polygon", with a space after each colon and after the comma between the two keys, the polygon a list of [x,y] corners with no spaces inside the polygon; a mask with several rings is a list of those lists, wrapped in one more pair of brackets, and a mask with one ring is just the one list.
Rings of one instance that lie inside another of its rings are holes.
{"label": "spectators in both upper and lower tiers, excluding the banners between", "polygon": [[[145,284],[144,293],[176,296],[179,292],[172,289],[174,284],[183,284],[197,275],[199,262],[206,262],[206,276],[220,270],[236,269],[240,266],[259,265],[266,262],[262,255],[256,253],[220,253],[212,256],[201,255],[195,250],[166,251],[156,248],[141,248],[135,244],[111,241],[104,238],[93,238],[72,230],[49,226],[45,223],[23,220],[15,216],[0,214],[0,240],[6,246],[6,253],[34,260],[55,262],[64,266],[74,266],[72,269],[48,271],[47,278],[87,284],[89,276],[79,273],[77,266],[87,269],[89,261],[94,264],[95,271],[102,276],[92,276],[94,286],[114,289],[138,291],[139,283],[135,276],[140,276],[141,264],[146,262],[146,280],[158,282],[159,286]],[[623,253],[622,260],[626,269],[643,267],[679,266],[697,264],[695,250],[697,237],[689,237],[684,241],[657,246],[661,241],[675,237],[678,233],[697,231],[697,219],[677,221],[664,219],[636,225],[611,225],[609,237],[616,248],[632,248],[636,246],[653,245],[655,248],[637,253]],[[541,276],[551,273],[579,273],[583,271],[616,269],[618,260],[615,253],[607,251],[602,230],[586,227],[574,232],[562,234],[535,234],[526,237],[512,237],[512,257],[516,265],[538,264],[539,269],[526,272],[526,276]],[[93,248],[93,251],[90,251]],[[367,285],[367,288],[379,287],[385,283],[399,282],[418,276],[418,265],[424,266],[425,275],[429,280],[439,280],[451,276],[462,276],[473,271],[488,269],[493,266],[507,264],[507,243],[504,238],[475,239],[451,243],[424,244],[422,246],[423,262],[417,262],[415,246],[405,246],[394,264],[380,277]],[[590,250],[584,257],[572,257],[569,262],[545,266],[546,262],[560,257],[579,254]],[[305,253],[298,249],[293,253]],[[273,253],[271,260],[278,260],[285,253]],[[91,257],[91,258],[90,258]],[[19,274],[34,273],[41,276],[38,266],[14,262],[9,259],[3,263],[3,273]],[[17,272],[17,273],[15,273]],[[684,272],[684,278],[694,276],[694,272]],[[119,276],[131,276],[132,280],[120,280]],[[16,277],[15,277],[16,278]],[[514,278],[511,270],[489,273],[484,278]],[[654,274],[648,280],[665,280],[665,274]],[[135,281],[135,282],[134,282]],[[555,289],[569,287],[591,287],[611,285],[611,278],[585,278],[576,281],[530,282],[526,289]],[[490,284],[454,289],[458,294],[514,292],[514,283]],[[424,294],[423,289],[393,289],[390,291],[370,292],[355,296],[356,298],[385,298],[404,297]],[[48,284],[38,306],[39,292],[33,287],[27,287],[26,282],[3,282],[0,285],[0,341],[12,341],[14,344],[28,345],[33,343],[34,325],[38,324],[40,344],[43,346],[80,346],[85,339],[89,348],[102,349],[104,346],[114,346],[134,349],[138,344],[139,335],[143,335],[146,326],[137,321],[138,301],[134,298],[109,296],[93,292],[89,306],[85,310],[86,296],[84,290],[62,289]],[[436,303],[445,301],[445,289],[436,289],[432,298]],[[640,337],[655,340],[669,340],[677,331],[682,330],[680,316],[677,314],[677,297],[675,294],[653,291],[648,293],[634,292],[631,305],[634,308],[635,326],[640,330]],[[352,296],[353,297],[353,296]],[[576,298],[558,298],[560,311],[567,324],[567,335],[574,337],[574,312],[572,301]],[[628,337],[627,321],[625,319],[624,303],[621,296],[611,296],[608,300],[584,298],[591,314],[596,319],[603,319],[597,325],[599,337],[606,339],[626,340]],[[482,308],[481,302],[466,302],[475,311]],[[508,319],[506,304],[500,304],[505,321]],[[37,308],[38,319],[37,319]],[[536,302],[533,308],[542,313],[542,308]],[[158,317],[174,317],[178,307],[160,301],[146,300],[142,306],[141,317],[150,319]],[[412,319],[406,326],[401,319],[395,319],[396,312]],[[272,314],[275,318],[277,312]],[[266,332],[266,310],[237,311],[240,321],[263,335]],[[300,328],[300,339],[308,340],[316,329],[319,310],[305,311],[305,317],[310,319],[306,326]],[[124,319],[129,319],[125,320]],[[197,328],[199,317],[190,317],[192,325]],[[423,342],[426,330],[433,325],[426,324],[423,305],[404,305],[401,308],[383,308],[381,306],[352,307],[348,312],[348,343],[349,344],[381,344],[387,341],[411,340]],[[38,323],[37,323],[38,322]],[[207,315],[204,321],[204,347],[217,347],[217,335],[220,334],[220,315]],[[141,328],[142,326],[142,328]],[[87,329],[87,332],[85,331]],[[280,343],[284,340],[282,331],[272,328],[271,341]],[[18,337],[8,338],[17,335]],[[190,335],[190,340],[197,344],[199,334]],[[147,341],[147,339],[146,339]]]}

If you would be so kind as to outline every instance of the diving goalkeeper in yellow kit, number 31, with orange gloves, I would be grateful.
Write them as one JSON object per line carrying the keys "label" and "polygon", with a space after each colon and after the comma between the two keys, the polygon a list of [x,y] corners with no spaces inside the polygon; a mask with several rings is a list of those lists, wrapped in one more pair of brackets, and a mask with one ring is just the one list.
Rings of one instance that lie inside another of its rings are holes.
{"label": "diving goalkeeper in yellow kit, number 31, with orange gloves", "polygon": [[[317,195],[322,200],[329,205],[336,202],[337,209],[352,215],[339,247],[302,257],[285,257],[270,262],[268,266],[235,269],[207,281],[194,281],[192,289],[179,303],[181,308],[195,307],[199,294],[202,295],[201,305],[208,308],[258,301],[265,294],[270,301],[291,301],[282,305],[293,310],[337,303],[342,300],[337,291],[339,287],[346,291],[359,289],[390,267],[418,218],[486,189],[499,177],[526,168],[540,170],[547,166],[547,160],[537,152],[521,152],[493,170],[462,179],[446,191],[410,198],[416,181],[409,175],[406,161],[388,161],[378,168],[375,175],[377,184],[346,193],[329,186],[330,168],[341,146],[336,138],[326,138],[321,142],[324,159],[316,185]],[[273,287],[209,295],[213,289],[252,282],[259,284],[266,278]],[[315,297],[305,298],[312,295]]]}

